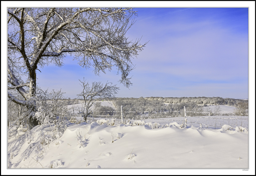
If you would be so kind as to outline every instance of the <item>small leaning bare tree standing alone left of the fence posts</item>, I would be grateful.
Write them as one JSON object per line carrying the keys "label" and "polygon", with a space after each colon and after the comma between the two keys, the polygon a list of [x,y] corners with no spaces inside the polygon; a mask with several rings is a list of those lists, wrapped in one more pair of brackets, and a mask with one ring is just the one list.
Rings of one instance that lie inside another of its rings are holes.
{"label": "small leaning bare tree standing alone left of the fence posts", "polygon": [[[109,100],[110,98],[114,98],[115,94],[118,92],[119,87],[116,85],[112,85],[112,83],[101,84],[101,82],[92,82],[92,86],[89,85],[86,80],[81,81],[81,86],[83,87],[83,91],[78,94],[78,98],[82,98],[84,100],[82,104],[81,111],[84,115],[84,120],[86,121],[87,116],[92,114],[92,110],[90,109],[95,102],[96,98],[104,98]],[[80,111],[80,109],[78,109]]]}

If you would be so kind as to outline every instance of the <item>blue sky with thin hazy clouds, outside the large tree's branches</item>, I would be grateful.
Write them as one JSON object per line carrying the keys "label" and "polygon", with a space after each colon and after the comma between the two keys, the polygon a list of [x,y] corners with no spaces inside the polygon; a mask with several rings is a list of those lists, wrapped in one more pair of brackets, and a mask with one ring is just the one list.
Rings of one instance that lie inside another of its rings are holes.
{"label": "blue sky with thin hazy clouds, outside the large tree's branches", "polygon": [[[67,56],[65,65],[37,73],[42,89],[76,98],[78,79],[112,82],[116,97],[248,98],[248,8],[135,8],[138,16],[128,30],[130,40],[148,42],[132,59],[132,86],[119,84],[114,68],[100,76]],[[54,75],[54,76],[52,76]],[[57,78],[57,79],[55,79]]]}

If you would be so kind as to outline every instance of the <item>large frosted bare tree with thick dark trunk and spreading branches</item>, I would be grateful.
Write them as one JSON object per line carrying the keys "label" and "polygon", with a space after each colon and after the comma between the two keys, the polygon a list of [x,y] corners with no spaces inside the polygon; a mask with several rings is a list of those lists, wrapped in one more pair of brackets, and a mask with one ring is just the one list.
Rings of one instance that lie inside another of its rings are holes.
{"label": "large frosted bare tree with thick dark trunk and spreading branches", "polygon": [[67,53],[96,75],[116,67],[119,81],[132,84],[131,58],[146,44],[125,36],[133,15],[132,8],[8,8],[8,90],[23,100],[10,91],[8,98],[28,108],[30,128],[38,124],[36,72],[50,63],[61,67]]}

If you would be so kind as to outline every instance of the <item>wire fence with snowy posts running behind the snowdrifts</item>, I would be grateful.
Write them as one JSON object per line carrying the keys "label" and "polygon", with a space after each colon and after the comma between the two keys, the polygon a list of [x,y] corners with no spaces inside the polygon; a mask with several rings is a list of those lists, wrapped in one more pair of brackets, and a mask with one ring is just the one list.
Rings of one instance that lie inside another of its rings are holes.
{"label": "wire fence with snowy posts running behind the snowdrifts", "polygon": [[[94,118],[106,118],[106,119],[121,119],[122,111],[93,111],[92,117]],[[196,114],[199,114],[199,116]],[[194,115],[194,116],[193,116]],[[242,126],[248,128],[248,114],[245,116],[237,116],[234,113],[221,113],[221,112],[195,112],[195,111],[124,111],[124,122],[127,120],[141,120],[149,122],[149,119],[154,119],[156,122],[161,123],[162,126],[171,122],[177,122],[183,124],[186,120],[186,124],[189,126],[203,126],[203,128],[221,128],[224,124],[236,128],[236,126]],[[148,120],[147,120],[148,119]]]}

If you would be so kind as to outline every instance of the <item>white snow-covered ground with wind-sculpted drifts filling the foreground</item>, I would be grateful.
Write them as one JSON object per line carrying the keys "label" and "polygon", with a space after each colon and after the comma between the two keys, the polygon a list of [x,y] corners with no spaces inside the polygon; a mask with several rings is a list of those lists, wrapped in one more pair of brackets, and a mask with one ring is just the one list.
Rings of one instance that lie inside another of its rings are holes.
{"label": "white snow-covered ground with wind-sculpted drifts filling the foreground", "polygon": [[8,168],[248,168],[248,116],[247,120],[241,116],[221,116],[225,120],[218,117],[187,117],[188,121],[197,122],[188,122],[187,128],[181,128],[184,117],[131,120],[115,125],[110,125],[110,119],[97,118],[96,122],[68,123],[56,140],[49,125],[38,125],[29,133],[19,129],[20,137],[8,140],[7,165]]}

